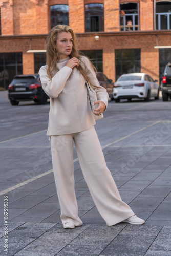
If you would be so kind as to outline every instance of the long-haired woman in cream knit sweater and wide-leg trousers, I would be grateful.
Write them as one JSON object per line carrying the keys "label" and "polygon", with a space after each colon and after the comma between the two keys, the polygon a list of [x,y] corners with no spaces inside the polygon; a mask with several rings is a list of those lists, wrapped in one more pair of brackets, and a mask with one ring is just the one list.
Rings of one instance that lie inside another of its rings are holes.
{"label": "long-haired woman in cream knit sweater and wide-leg trousers", "polygon": [[106,166],[94,129],[86,80],[96,91],[100,115],[108,93],[99,85],[93,65],[78,53],[74,31],[66,25],[52,28],[47,37],[47,65],[39,70],[42,88],[50,97],[49,126],[52,164],[63,228],[82,225],[74,190],[73,141],[83,176],[96,207],[108,226],[119,222],[143,224],[119,195]]}

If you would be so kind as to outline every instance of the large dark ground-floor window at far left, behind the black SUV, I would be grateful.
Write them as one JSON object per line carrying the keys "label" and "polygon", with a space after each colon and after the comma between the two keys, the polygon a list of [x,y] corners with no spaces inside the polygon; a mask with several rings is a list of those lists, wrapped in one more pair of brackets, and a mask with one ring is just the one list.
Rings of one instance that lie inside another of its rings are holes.
{"label": "large dark ground-floor window at far left, behind the black SUV", "polygon": [[23,74],[22,52],[0,53],[0,87],[6,90],[15,75]]}

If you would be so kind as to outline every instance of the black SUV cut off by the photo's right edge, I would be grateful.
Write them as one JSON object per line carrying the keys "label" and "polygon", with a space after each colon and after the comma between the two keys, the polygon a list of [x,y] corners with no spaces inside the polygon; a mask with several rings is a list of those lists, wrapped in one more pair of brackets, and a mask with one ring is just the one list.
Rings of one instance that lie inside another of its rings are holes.
{"label": "black SUV cut off by the photo's right edge", "polygon": [[160,84],[162,91],[163,101],[168,101],[168,97],[171,97],[171,63],[169,62],[163,73],[163,80]]}

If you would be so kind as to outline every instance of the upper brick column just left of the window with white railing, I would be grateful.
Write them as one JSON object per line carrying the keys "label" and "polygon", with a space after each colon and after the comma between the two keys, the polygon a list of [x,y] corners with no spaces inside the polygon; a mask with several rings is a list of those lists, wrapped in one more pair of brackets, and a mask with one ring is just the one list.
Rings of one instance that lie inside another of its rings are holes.
{"label": "upper brick column just left of the window with white railing", "polygon": [[119,0],[104,0],[104,31],[119,31]]}

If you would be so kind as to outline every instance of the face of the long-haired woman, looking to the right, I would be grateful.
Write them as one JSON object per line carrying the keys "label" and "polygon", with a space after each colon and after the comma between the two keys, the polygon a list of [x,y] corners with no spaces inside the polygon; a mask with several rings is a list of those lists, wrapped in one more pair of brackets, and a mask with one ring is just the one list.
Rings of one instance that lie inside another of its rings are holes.
{"label": "face of the long-haired woman, looking to the right", "polygon": [[70,32],[61,32],[58,34],[56,49],[60,59],[65,59],[71,54],[73,39]]}

